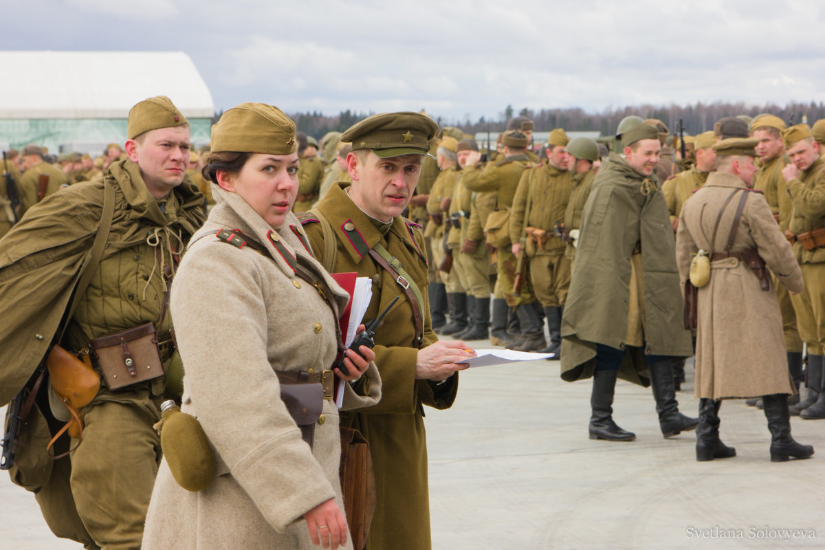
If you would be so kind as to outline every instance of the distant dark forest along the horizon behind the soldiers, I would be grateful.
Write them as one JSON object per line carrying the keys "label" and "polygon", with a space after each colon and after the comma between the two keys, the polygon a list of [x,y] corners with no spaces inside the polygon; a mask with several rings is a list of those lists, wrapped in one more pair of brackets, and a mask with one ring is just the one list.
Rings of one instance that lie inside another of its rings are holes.
{"label": "distant dark forest along the horizon behind the soldiers", "polygon": [[[789,103],[786,106],[766,104],[763,106],[752,106],[745,103],[716,103],[704,104],[696,103],[691,106],[633,106],[621,107],[613,110],[604,110],[601,113],[587,113],[582,109],[542,109],[539,111],[522,109],[518,112],[512,106],[507,106],[499,113],[498,120],[486,120],[481,117],[479,120],[446,120],[436,117],[436,122],[441,126],[456,126],[467,134],[486,132],[489,128],[491,132],[499,132],[506,129],[507,120],[515,115],[525,115],[535,122],[535,131],[543,132],[554,128],[563,128],[570,131],[577,130],[597,130],[602,135],[615,132],[619,121],[627,115],[639,115],[642,118],[662,120],[671,130],[676,132],[679,120],[685,125],[686,134],[699,134],[705,130],[713,129],[714,122],[724,116],[736,115],[758,115],[760,113],[771,113],[779,116],[785,122],[799,124],[806,121],[809,125],[821,118],[825,118],[825,104],[823,103]],[[323,115],[318,112],[293,113],[290,118],[295,120],[295,125],[305,134],[314,136],[316,139],[323,138],[324,134],[331,131],[343,132],[354,125],[359,120],[365,119],[372,113],[356,113],[351,110],[343,110],[338,115]]]}

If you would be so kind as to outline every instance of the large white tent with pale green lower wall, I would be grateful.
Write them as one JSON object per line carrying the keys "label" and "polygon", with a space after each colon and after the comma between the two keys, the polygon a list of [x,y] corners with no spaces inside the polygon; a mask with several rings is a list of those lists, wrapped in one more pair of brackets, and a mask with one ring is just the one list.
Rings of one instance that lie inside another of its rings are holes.
{"label": "large white tent with pale green lower wall", "polygon": [[192,140],[209,141],[212,95],[183,52],[0,51],[0,66],[0,142],[123,143],[129,110],[151,96],[168,96]]}

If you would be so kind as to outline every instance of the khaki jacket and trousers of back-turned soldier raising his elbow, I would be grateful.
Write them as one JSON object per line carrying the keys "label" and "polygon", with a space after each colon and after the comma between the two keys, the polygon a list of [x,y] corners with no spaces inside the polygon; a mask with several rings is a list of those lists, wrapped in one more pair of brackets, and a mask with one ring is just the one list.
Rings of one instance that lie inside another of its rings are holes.
{"label": "khaki jacket and trousers of back-turned soldier raising his elbow", "polygon": [[[462,183],[464,187],[474,192],[495,192],[497,204],[495,209],[511,210],[512,227],[512,204],[516,195],[516,188],[521,179],[521,174],[530,166],[530,161],[525,155],[512,155],[499,159],[497,162],[488,162],[483,169],[480,167],[464,167]],[[486,227],[487,218],[490,212],[480,212],[480,221]],[[506,229],[505,229],[506,230]],[[512,232],[511,232],[512,233]],[[507,243],[503,247],[496,249],[498,284],[502,285],[504,298],[507,305],[515,308],[522,303],[534,302],[532,294],[528,288],[523,288],[518,298],[513,296],[513,283],[516,279],[516,256],[512,253],[512,243]]]}

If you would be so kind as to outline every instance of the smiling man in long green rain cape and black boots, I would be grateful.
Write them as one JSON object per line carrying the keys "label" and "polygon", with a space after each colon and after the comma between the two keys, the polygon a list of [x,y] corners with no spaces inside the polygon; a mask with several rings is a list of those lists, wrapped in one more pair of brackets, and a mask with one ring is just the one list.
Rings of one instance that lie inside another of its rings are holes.
{"label": "smiling man in long green rain cape and black boots", "polygon": [[694,430],[679,412],[674,358],[693,354],[667,204],[653,179],[662,145],[656,128],[622,134],[625,158],[610,154],[582,214],[582,230],[562,319],[562,378],[593,378],[591,439],[636,436],[613,421],[617,376],[653,386],[662,435]]}

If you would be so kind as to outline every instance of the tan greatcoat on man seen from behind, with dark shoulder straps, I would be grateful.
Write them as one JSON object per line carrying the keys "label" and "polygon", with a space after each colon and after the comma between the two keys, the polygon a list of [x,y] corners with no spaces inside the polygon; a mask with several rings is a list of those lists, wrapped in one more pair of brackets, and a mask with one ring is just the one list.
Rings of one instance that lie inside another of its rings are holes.
{"label": "tan greatcoat on man seen from behind, with dark shoulder straps", "polygon": [[[676,231],[676,261],[681,281],[700,248],[724,251],[741,193],[728,203],[713,243],[714,225],[724,202],[745,184],[731,174],[713,172],[685,203]],[[782,284],[803,288],[802,272],[785,236],[759,193],[747,194],[730,251],[757,248]],[[710,282],[699,289],[695,397],[757,397],[794,393],[785,358],[785,337],[775,289],[763,291],[753,272],[736,258],[711,262]]]}

